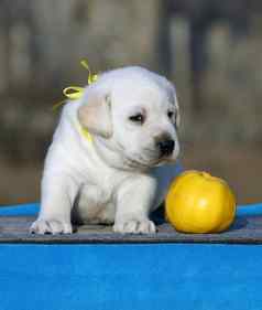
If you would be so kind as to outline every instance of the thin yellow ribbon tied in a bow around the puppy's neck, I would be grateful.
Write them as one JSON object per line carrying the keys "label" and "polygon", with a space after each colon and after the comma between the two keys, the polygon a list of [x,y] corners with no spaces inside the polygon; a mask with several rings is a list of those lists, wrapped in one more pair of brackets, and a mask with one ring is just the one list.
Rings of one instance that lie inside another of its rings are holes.
{"label": "thin yellow ribbon tied in a bow around the puppy's neck", "polygon": [[[80,61],[80,64],[88,71],[87,84],[90,85],[91,83],[96,82],[98,78],[98,75],[91,73],[87,61],[83,60],[83,61]],[[66,98],[68,98],[70,100],[76,100],[83,96],[84,90],[85,90],[85,88],[80,87],[80,86],[68,86],[63,89],[63,94]],[[53,110],[56,110],[59,106],[64,105],[65,103],[66,103],[66,99],[55,104],[53,106]],[[77,128],[87,140],[89,140],[89,141],[92,140],[91,135],[88,132],[88,130],[86,130],[85,128],[83,128],[79,125],[77,125]]]}

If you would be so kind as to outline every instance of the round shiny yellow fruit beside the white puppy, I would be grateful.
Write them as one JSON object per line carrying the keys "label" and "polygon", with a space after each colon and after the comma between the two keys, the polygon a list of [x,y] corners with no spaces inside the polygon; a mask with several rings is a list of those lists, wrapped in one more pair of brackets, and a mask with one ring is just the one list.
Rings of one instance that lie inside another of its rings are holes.
{"label": "round shiny yellow fruit beside the white puppy", "polygon": [[171,184],[165,214],[178,232],[219,233],[233,222],[236,197],[222,179],[188,170]]}

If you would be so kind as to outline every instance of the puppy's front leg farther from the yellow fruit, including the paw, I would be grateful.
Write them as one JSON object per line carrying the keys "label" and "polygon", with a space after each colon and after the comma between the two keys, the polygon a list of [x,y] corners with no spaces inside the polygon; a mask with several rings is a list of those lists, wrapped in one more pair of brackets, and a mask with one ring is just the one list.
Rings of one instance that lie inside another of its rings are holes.
{"label": "puppy's front leg farther from the yellow fruit, including the paw", "polygon": [[70,211],[78,185],[65,173],[45,173],[41,211],[30,231],[35,234],[72,234]]}

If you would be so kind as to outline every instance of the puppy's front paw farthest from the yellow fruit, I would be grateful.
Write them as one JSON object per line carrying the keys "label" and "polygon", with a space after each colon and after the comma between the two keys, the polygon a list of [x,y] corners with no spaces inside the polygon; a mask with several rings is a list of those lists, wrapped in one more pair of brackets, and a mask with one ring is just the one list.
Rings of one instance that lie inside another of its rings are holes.
{"label": "puppy's front paw farthest from the yellow fruit", "polygon": [[57,220],[36,220],[31,228],[31,234],[72,234],[72,225]]}

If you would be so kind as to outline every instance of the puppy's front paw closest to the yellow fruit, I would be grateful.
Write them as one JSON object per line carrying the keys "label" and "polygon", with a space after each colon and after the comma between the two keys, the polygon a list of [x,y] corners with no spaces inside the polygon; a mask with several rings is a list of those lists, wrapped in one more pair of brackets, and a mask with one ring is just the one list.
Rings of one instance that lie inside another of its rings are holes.
{"label": "puppy's front paw closest to the yellow fruit", "polygon": [[121,234],[153,234],[155,231],[155,224],[150,220],[130,220],[113,225],[113,232]]}

